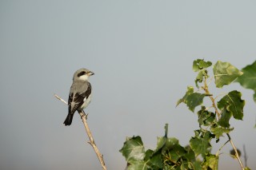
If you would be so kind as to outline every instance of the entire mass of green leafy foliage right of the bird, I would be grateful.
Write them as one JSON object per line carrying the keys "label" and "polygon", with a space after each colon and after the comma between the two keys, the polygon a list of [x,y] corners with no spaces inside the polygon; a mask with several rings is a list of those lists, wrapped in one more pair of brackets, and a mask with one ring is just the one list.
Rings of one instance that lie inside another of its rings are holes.
{"label": "entire mass of green leafy foliage right of the bird", "polygon": [[[177,105],[184,103],[190,111],[201,106],[197,111],[199,129],[194,130],[194,136],[190,138],[189,145],[182,146],[178,139],[168,137],[168,126],[165,126],[165,135],[158,137],[157,146],[154,150],[145,148],[140,136],[127,138],[120,152],[125,156],[127,169],[194,169],[194,170],[217,170],[219,152],[231,138],[229,132],[234,130],[230,127],[230,118],[242,120],[245,101],[242,100],[242,93],[237,90],[226,93],[220,100],[210,93],[208,85],[210,61],[197,59],[193,62],[193,70],[197,72],[193,86],[188,86],[185,95],[178,100]],[[243,74],[243,73],[244,74]],[[256,61],[253,65],[247,65],[242,71],[231,65],[229,62],[217,61],[213,65],[215,85],[222,88],[223,85],[230,85],[238,78],[238,82],[248,89],[254,90],[254,101],[256,102]],[[203,101],[210,98],[211,104],[205,106]],[[211,153],[213,141],[219,142],[228,136],[224,144],[216,154]],[[233,147],[234,148],[234,147]],[[234,148],[238,150],[237,148]],[[239,159],[239,157],[236,157]],[[244,168],[250,169],[250,168]]]}

